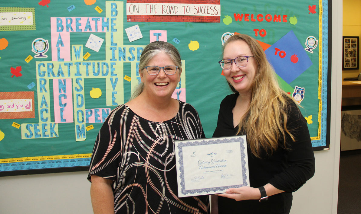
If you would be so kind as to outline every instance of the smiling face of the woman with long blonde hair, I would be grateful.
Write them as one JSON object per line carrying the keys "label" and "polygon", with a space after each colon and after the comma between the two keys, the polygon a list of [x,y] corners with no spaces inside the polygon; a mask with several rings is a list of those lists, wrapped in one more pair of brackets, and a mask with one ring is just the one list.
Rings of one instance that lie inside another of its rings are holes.
{"label": "smiling face of the woman with long blonde hair", "polygon": [[[235,40],[228,43],[223,51],[223,59],[235,59],[240,56],[253,56],[251,49],[243,40]],[[227,81],[240,94],[250,93],[251,86],[256,75],[255,58],[248,58],[248,63],[244,67],[238,67],[234,61],[232,67],[228,70],[223,70]]]}

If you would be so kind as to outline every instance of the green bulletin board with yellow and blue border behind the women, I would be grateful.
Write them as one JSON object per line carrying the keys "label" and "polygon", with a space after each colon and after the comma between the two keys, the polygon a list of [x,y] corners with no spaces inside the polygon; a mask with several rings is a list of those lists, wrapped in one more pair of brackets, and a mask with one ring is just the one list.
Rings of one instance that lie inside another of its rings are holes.
{"label": "green bulletin board with yellow and blue border behind the women", "polygon": [[300,103],[314,150],[329,148],[326,0],[13,0],[0,7],[0,176],[86,170],[98,131],[140,83],[139,57],[162,40],[181,53],[173,98],[199,112],[206,137],[231,94],[222,44],[258,40]]}

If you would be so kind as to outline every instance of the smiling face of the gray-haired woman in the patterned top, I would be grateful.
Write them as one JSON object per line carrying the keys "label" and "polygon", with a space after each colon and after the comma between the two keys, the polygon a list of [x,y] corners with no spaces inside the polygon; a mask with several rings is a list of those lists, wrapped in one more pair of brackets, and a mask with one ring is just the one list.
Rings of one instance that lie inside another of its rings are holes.
{"label": "smiling face of the gray-haired woman in the patterned top", "polygon": [[[175,66],[168,54],[161,52],[155,55],[146,66]],[[177,72],[173,75],[165,74],[161,69],[157,75],[149,75],[147,70],[139,69],[140,79],[144,83],[143,93],[146,93],[150,97],[162,97],[171,98],[174,89],[177,87],[179,81],[181,81],[182,69],[177,69]]]}

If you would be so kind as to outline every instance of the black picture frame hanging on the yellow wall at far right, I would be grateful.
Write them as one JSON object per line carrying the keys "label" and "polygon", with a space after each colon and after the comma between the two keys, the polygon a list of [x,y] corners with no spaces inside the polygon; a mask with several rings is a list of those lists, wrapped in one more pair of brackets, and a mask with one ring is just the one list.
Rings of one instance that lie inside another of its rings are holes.
{"label": "black picture frame hanging on the yellow wall at far right", "polygon": [[358,70],[358,36],[342,37],[342,68],[343,70]]}

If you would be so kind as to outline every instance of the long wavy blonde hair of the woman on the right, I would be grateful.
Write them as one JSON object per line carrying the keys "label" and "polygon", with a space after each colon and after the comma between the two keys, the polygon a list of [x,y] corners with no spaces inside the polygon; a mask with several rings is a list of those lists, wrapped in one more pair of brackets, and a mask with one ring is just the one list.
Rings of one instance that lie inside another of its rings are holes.
{"label": "long wavy blonde hair of the woman on the right", "polygon": [[[237,134],[244,129],[251,152],[256,157],[261,157],[264,152],[271,155],[279,146],[287,149],[286,136],[295,141],[292,130],[286,127],[289,105],[294,101],[280,89],[275,72],[257,40],[244,34],[234,35],[226,41],[223,51],[226,45],[236,40],[248,44],[256,64],[256,75],[250,90],[251,103],[239,121]],[[228,85],[237,92],[230,83]],[[283,141],[281,145],[278,143],[280,140]]]}

